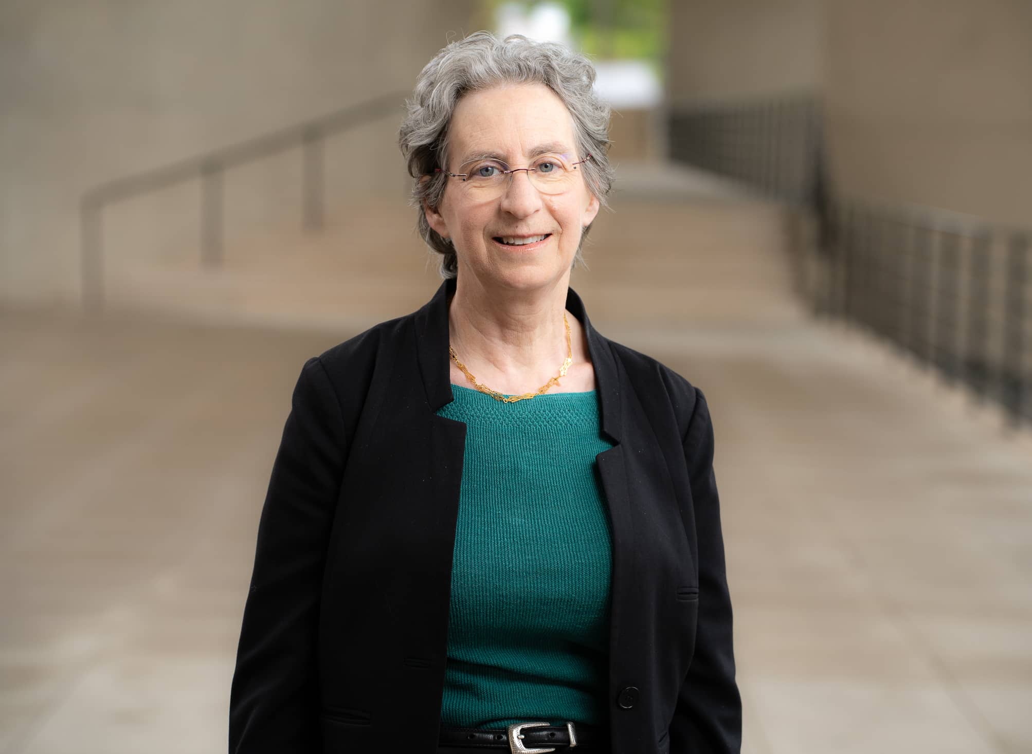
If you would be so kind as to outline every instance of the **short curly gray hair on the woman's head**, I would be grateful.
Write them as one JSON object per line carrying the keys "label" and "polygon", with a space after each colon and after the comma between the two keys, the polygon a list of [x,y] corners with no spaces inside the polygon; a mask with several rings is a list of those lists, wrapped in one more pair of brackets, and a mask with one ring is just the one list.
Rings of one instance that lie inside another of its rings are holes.
{"label": "short curly gray hair on the woman's head", "polygon": [[[613,185],[613,168],[606,157],[609,105],[595,97],[594,77],[591,62],[561,44],[520,34],[499,40],[486,31],[448,44],[426,64],[406,101],[408,114],[398,131],[398,146],[415,178],[411,203],[419,210],[419,234],[442,255],[442,277],[457,274],[458,260],[451,241],[430,227],[423,202],[437,207],[444,195],[448,176],[434,168],[448,164],[448,125],[462,95],[499,84],[544,84],[555,92],[573,117],[578,152],[591,155],[583,165],[588,190],[608,206],[606,196]],[[581,234],[574,266],[584,261],[581,245],[590,228]]]}

